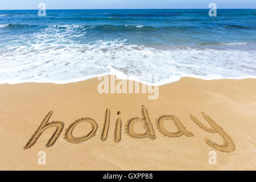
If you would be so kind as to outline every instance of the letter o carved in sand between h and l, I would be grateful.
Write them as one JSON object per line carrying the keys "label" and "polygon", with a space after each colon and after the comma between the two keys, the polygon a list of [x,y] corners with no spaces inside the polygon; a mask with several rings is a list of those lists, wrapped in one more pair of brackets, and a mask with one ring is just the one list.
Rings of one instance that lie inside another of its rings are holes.
{"label": "letter o carved in sand between h and l", "polygon": [[[84,137],[74,137],[72,134],[73,129],[75,129],[76,125],[79,125],[82,122],[89,122],[92,125],[92,131],[90,131]],[[96,121],[94,121],[92,118],[80,118],[77,119],[77,121],[73,122],[71,125],[69,125],[68,129],[65,132],[64,139],[70,143],[81,143],[94,137],[96,135],[97,129],[98,125]]]}

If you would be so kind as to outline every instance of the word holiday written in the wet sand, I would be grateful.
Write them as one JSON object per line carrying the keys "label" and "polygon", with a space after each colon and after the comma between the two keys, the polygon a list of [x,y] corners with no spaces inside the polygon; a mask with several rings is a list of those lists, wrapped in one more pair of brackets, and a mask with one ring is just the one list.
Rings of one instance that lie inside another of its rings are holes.
{"label": "word holiday written in the wet sand", "polygon": [[[150,138],[155,139],[155,131],[152,126],[152,123],[150,121],[150,117],[148,115],[148,111],[144,105],[142,105],[142,118],[136,117],[129,119],[125,126],[125,131],[127,135],[129,135],[132,138]],[[61,131],[63,131],[64,123],[60,121],[52,121],[48,122],[49,118],[51,118],[51,115],[53,114],[53,111],[49,111],[49,113],[46,115],[46,117],[43,119],[43,122],[40,124],[38,129],[35,131],[35,133],[32,135],[30,140],[28,140],[26,146],[24,146],[24,149],[31,148],[36,143],[36,140],[40,137],[40,135],[43,133],[44,130],[49,129],[50,127],[56,127],[55,133],[53,133],[52,137],[48,140],[46,147],[51,147],[53,144],[55,144],[57,138],[59,138]],[[120,111],[117,113],[120,114]],[[193,115],[190,114],[190,117],[193,122],[197,126],[199,126],[201,129],[207,131],[208,133],[218,133],[222,137],[224,143],[223,144],[217,144],[215,142],[212,142],[209,139],[205,139],[205,143],[208,144],[208,146],[214,148],[215,150],[221,151],[221,152],[232,152],[236,149],[235,144],[232,140],[232,138],[229,137],[228,134],[225,133],[225,131],[217,125],[216,122],[213,121],[208,115],[205,113],[201,113],[204,117],[204,119],[210,124],[210,128],[203,125]],[[175,126],[177,127],[177,131],[174,133],[170,133],[166,130],[166,128],[163,125],[164,121],[172,121],[174,122]],[[88,122],[90,125],[92,125],[92,130],[86,134],[84,137],[74,137],[72,132],[82,122]],[[135,133],[133,130],[134,123],[136,122],[142,122],[145,133]],[[101,131],[101,140],[105,141],[108,138],[108,132],[109,132],[109,125],[110,125],[110,109],[106,109],[106,115],[105,115],[105,121],[104,126]],[[185,135],[187,137],[193,137],[193,133],[188,131],[184,125],[180,122],[179,118],[177,118],[175,115],[162,115],[158,119],[156,119],[156,127],[160,133],[162,133],[164,136],[167,137],[181,137],[182,135]],[[94,137],[96,135],[96,131],[98,129],[98,125],[96,121],[92,118],[80,118],[77,119],[75,122],[71,123],[71,125],[68,126],[67,130],[64,134],[64,139],[67,140],[70,143],[81,143],[85,142],[86,140],[89,140],[90,138]],[[121,117],[118,117],[117,121],[115,122],[115,129],[114,129],[114,141],[120,142],[121,141],[121,129],[122,129],[122,120]]]}

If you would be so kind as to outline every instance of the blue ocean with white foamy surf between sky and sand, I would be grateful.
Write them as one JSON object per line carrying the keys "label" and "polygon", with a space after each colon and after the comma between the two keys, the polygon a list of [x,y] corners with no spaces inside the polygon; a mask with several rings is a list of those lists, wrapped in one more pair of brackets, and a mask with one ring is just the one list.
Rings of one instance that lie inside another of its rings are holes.
{"label": "blue ocean with white foamy surf between sky and sand", "polygon": [[0,83],[256,78],[256,10],[0,10]]}

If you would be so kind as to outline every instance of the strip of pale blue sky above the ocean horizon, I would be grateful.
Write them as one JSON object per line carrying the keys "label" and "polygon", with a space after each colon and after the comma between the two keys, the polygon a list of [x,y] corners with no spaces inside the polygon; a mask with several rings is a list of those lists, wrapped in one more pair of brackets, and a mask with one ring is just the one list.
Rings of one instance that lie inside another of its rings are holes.
{"label": "strip of pale blue sky above the ocean horizon", "polygon": [[40,2],[47,9],[256,9],[255,0],[1,0],[0,10],[38,9]]}

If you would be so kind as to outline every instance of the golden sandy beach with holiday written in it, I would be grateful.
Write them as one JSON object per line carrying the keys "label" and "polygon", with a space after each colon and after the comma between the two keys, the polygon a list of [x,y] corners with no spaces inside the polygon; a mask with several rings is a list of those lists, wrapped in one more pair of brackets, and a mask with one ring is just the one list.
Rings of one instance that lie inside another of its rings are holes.
{"label": "golden sandy beach with holiday written in it", "polygon": [[[184,77],[160,86],[157,100],[148,100],[147,94],[142,93],[100,94],[99,82],[93,78],[70,84],[0,85],[1,170],[256,169],[255,79],[206,81]],[[56,130],[49,127],[24,149],[50,111],[49,123],[64,124],[55,143],[46,147]],[[143,137],[145,113],[152,125],[146,127],[151,130]],[[164,115],[165,121],[156,122]],[[203,116],[208,116],[224,134],[216,133],[217,130],[210,133]],[[141,121],[137,118],[130,130],[127,124],[136,117]],[[91,118],[97,126],[81,122],[68,131],[81,118]],[[184,128],[180,130],[178,126]],[[164,136],[166,132],[170,136]],[[90,136],[81,142],[85,135]],[[217,144],[217,150],[209,140]],[[46,165],[38,164],[39,151],[46,152]],[[216,151],[215,165],[208,162],[210,151]]]}

